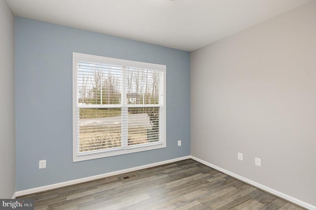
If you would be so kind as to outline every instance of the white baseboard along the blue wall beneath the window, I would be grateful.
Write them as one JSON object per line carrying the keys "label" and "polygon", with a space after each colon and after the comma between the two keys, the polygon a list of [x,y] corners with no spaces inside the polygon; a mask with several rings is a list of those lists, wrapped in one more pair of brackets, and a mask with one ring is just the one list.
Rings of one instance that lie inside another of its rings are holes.
{"label": "white baseboard along the blue wall beneath the window", "polygon": [[155,166],[159,166],[159,165],[163,165],[163,164],[168,164],[168,163],[173,163],[173,162],[180,161],[180,160],[186,160],[186,159],[190,159],[190,158],[191,158],[191,156],[189,155],[189,156],[185,156],[185,157],[180,157],[180,158],[175,158],[175,159],[171,159],[171,160],[165,160],[165,161],[161,161],[161,162],[157,162],[157,163],[152,163],[152,164],[147,164],[147,165],[143,165],[143,166],[124,169],[124,170],[120,170],[120,171],[116,171],[116,172],[110,172],[110,173],[106,173],[106,174],[102,174],[102,175],[94,175],[94,176],[89,176],[89,177],[85,177],[85,178],[79,178],[79,179],[75,179],[75,180],[60,182],[60,183],[56,183],[56,184],[50,184],[50,185],[46,185],[46,186],[31,188],[31,189],[27,189],[27,190],[21,190],[21,191],[15,192],[14,196],[18,197],[18,196],[23,196],[23,195],[28,195],[28,194],[34,194],[34,193],[38,193],[38,192],[42,192],[42,191],[46,191],[46,190],[52,190],[52,189],[56,189],[56,188],[60,188],[60,187],[73,185],[73,184],[79,184],[82,182],[92,181],[95,179],[105,178],[105,177],[109,177],[109,176],[113,176],[113,175],[125,174],[125,173],[129,173],[129,172],[133,172],[133,171],[137,171],[137,170],[141,170],[141,169],[147,169],[147,168],[151,168],[151,167],[155,167]]}

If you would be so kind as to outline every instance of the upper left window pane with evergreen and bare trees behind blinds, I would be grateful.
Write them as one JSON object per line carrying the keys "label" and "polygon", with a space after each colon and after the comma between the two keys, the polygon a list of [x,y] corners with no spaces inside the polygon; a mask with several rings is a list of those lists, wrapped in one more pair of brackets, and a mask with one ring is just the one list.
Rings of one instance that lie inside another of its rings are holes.
{"label": "upper left window pane with evergreen and bare trees behind blinds", "polygon": [[77,89],[80,104],[121,104],[122,82],[120,66],[78,63]]}

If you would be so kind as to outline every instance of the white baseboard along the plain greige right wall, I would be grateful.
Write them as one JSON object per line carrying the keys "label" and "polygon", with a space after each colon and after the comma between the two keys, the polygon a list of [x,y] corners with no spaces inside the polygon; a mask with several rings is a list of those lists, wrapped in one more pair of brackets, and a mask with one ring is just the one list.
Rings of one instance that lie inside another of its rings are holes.
{"label": "white baseboard along the plain greige right wall", "polygon": [[306,202],[304,202],[304,201],[301,201],[301,200],[298,200],[298,199],[296,199],[296,198],[293,198],[293,197],[291,197],[291,196],[289,196],[289,195],[286,195],[286,194],[284,194],[284,193],[281,193],[281,192],[279,192],[279,191],[277,191],[277,190],[275,190],[275,189],[272,189],[272,188],[270,188],[270,187],[267,187],[267,186],[265,186],[265,185],[263,185],[263,184],[260,184],[260,183],[258,183],[258,182],[252,181],[252,180],[250,180],[250,179],[248,179],[248,178],[245,178],[245,177],[243,177],[243,176],[241,176],[241,175],[237,175],[237,174],[235,174],[235,173],[233,173],[233,172],[230,172],[230,171],[227,171],[227,170],[225,170],[225,169],[222,169],[222,168],[220,168],[220,167],[218,167],[218,166],[215,166],[215,165],[213,165],[213,164],[211,164],[211,163],[208,163],[208,162],[206,162],[206,161],[204,161],[204,160],[198,159],[198,158],[196,158],[196,157],[194,157],[194,156],[191,156],[191,158],[192,158],[193,160],[196,160],[197,162],[200,162],[200,163],[202,163],[202,164],[204,164],[204,165],[206,165],[206,166],[209,166],[209,167],[211,167],[211,168],[213,168],[213,169],[216,169],[216,170],[218,170],[218,171],[220,171],[220,172],[223,172],[223,173],[225,173],[225,174],[227,174],[227,175],[233,176],[233,177],[235,177],[235,178],[237,178],[237,179],[239,179],[239,180],[241,180],[241,181],[244,181],[244,182],[246,182],[246,183],[248,183],[248,184],[251,184],[251,185],[253,185],[253,186],[255,186],[255,187],[258,187],[258,188],[260,188],[260,189],[262,189],[262,190],[264,190],[264,191],[267,191],[267,192],[269,192],[269,193],[271,193],[271,194],[274,194],[274,195],[276,195],[276,196],[278,196],[278,197],[280,197],[280,198],[283,198],[283,199],[285,199],[285,200],[287,200],[287,201],[290,201],[290,202],[292,202],[292,203],[294,203],[294,204],[297,204],[297,205],[299,205],[299,206],[301,206],[301,207],[307,208],[307,209],[309,209],[309,210],[316,210],[316,206],[313,206],[313,205],[311,205],[311,204],[308,204],[308,203],[306,203]]}

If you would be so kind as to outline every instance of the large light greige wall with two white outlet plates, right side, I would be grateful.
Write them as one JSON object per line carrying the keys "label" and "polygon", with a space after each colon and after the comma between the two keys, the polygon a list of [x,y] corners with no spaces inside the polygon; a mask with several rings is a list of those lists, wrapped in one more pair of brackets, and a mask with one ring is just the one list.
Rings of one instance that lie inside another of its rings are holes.
{"label": "large light greige wall with two white outlet plates, right side", "polygon": [[191,53],[191,149],[316,206],[315,0]]}

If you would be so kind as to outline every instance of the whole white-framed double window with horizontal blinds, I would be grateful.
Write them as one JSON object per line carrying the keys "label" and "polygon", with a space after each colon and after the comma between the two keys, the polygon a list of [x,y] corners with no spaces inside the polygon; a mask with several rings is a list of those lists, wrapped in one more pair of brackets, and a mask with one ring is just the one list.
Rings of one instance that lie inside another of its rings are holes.
{"label": "whole white-framed double window with horizontal blinds", "polygon": [[73,161],[166,147],[165,66],[73,53]]}

